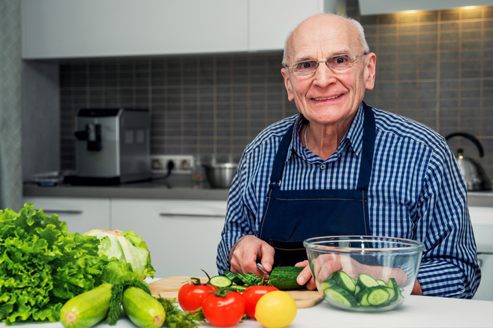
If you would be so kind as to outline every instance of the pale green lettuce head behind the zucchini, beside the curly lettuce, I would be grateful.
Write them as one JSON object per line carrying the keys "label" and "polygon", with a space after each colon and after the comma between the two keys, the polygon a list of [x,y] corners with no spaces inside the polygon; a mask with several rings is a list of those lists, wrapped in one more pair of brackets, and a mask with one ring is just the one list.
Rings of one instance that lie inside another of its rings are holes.
{"label": "pale green lettuce head behind the zucchini, beside the curly lettuce", "polygon": [[137,279],[143,280],[146,276],[154,277],[155,270],[151,264],[149,249],[134,231],[94,229],[84,235],[99,238],[101,240],[99,254],[130,264],[132,270],[138,273]]}

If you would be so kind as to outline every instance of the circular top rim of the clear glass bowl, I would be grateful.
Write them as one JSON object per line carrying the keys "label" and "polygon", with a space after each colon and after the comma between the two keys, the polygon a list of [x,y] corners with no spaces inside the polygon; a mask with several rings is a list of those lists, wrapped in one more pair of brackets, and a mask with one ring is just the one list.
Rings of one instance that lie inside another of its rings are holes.
{"label": "circular top rim of the clear glass bowl", "polygon": [[[399,245],[399,247],[382,248],[362,248],[362,247],[340,247],[337,245],[319,245],[320,243],[340,243],[340,242],[379,242]],[[303,246],[312,251],[330,251],[340,253],[353,253],[355,251],[368,251],[368,253],[414,253],[425,249],[425,245],[420,241],[412,239],[396,238],[389,236],[320,236],[307,238],[303,241]],[[403,247],[404,246],[404,247]]]}

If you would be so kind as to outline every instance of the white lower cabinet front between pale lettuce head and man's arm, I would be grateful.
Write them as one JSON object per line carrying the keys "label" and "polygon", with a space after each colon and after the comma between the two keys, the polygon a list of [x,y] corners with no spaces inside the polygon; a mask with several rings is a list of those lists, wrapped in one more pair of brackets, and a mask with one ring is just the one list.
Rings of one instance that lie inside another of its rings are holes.
{"label": "white lower cabinet front between pale lettuce head and man's arm", "polygon": [[112,200],[112,227],[134,230],[147,243],[155,277],[216,275],[226,202]]}

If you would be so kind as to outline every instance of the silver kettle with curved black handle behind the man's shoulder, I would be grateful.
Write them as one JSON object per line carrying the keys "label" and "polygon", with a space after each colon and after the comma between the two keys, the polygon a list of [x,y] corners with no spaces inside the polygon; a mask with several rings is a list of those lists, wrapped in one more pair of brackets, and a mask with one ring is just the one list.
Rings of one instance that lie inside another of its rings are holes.
{"label": "silver kettle with curved black handle behind the man's shoulder", "polygon": [[[481,142],[479,142],[475,136],[466,132],[455,132],[447,135],[445,139],[448,141],[448,139],[453,137],[465,137],[466,139],[469,139],[479,150],[479,157],[484,156],[483,146],[481,146]],[[492,190],[492,182],[477,159],[464,156],[464,150],[462,148],[457,148],[456,160],[459,169],[464,176],[464,180],[466,180],[468,191]]]}

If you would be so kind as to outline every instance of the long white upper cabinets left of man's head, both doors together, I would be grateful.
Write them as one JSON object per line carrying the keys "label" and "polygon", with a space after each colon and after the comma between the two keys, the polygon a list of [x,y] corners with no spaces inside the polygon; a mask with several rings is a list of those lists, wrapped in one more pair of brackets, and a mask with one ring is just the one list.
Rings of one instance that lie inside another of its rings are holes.
{"label": "long white upper cabinets left of man's head, both doors together", "polygon": [[324,0],[23,0],[23,58],[283,49]]}

